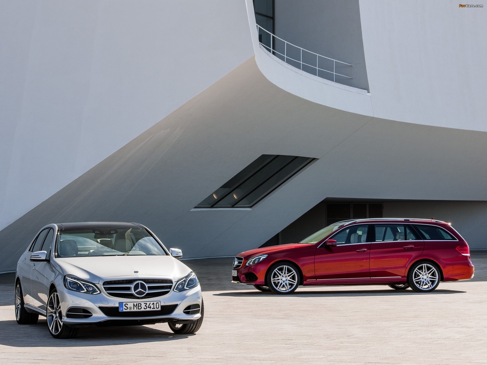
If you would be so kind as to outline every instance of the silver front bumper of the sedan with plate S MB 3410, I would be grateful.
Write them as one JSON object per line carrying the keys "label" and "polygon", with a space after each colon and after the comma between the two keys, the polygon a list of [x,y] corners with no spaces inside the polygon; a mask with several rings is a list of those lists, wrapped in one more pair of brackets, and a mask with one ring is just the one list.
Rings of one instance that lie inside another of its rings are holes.
{"label": "silver front bumper of the sedan with plate S MB 3410", "polygon": [[[68,326],[94,324],[106,326],[144,325],[169,321],[184,323],[186,321],[195,321],[201,317],[199,312],[197,314],[183,312],[183,310],[192,304],[199,304],[201,310],[202,296],[200,285],[184,292],[174,292],[171,290],[166,295],[146,300],[117,298],[109,296],[103,291],[99,294],[74,292],[66,289],[64,286],[58,287],[57,291],[61,301],[63,323]],[[118,304],[120,302],[161,302],[161,308],[163,310],[159,313],[157,311],[144,311],[140,314],[136,311],[119,312]],[[174,310],[172,310],[173,307]],[[69,318],[66,313],[73,308],[88,310],[93,315],[88,318]],[[123,313],[123,316],[121,316],[121,313]]]}

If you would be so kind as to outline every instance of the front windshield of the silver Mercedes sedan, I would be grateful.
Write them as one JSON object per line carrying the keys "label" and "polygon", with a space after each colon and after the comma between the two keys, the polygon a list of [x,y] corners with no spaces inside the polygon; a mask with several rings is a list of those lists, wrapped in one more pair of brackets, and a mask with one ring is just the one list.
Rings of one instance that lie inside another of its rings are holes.
{"label": "front windshield of the silver Mercedes sedan", "polygon": [[94,228],[61,231],[58,257],[167,255],[142,228]]}

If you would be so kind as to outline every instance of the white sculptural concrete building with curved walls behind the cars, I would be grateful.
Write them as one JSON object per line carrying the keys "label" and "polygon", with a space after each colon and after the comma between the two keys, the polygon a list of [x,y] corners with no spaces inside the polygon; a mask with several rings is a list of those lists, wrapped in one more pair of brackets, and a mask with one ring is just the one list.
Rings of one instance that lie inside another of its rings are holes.
{"label": "white sculptural concrete building with curved walls behind the cars", "polygon": [[0,272],[69,221],[208,257],[434,217],[487,249],[486,20],[443,0],[0,0]]}

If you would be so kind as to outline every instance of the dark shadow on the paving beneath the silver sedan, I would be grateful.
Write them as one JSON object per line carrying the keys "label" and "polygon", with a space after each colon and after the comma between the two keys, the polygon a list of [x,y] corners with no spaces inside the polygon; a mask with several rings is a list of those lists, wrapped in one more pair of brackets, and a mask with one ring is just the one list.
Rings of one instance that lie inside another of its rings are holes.
{"label": "dark shadow on the paving beneath the silver sedan", "polygon": [[189,336],[194,334],[175,334],[169,330],[169,327],[168,331],[165,331],[147,326],[87,326],[80,328],[75,338],[59,340],[49,334],[45,318],[39,318],[39,322],[35,325],[19,325],[15,320],[0,321],[0,345],[11,347],[113,346],[173,341]]}

